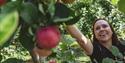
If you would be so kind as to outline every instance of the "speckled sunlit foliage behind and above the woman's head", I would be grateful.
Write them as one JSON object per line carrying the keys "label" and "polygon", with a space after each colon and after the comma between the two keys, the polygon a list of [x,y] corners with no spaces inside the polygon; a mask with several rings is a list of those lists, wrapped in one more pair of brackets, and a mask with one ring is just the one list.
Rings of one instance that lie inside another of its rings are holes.
{"label": "speckled sunlit foliage behind and above the woman's head", "polygon": [[125,15],[119,12],[119,10],[117,10],[118,7],[112,5],[110,1],[95,0],[88,5],[76,2],[72,8],[79,9],[77,12],[82,13],[82,18],[78,21],[77,25],[87,37],[92,37],[92,22],[98,18],[105,18],[111,23],[115,30],[117,30],[116,32],[119,37],[124,38],[123,25],[125,22]]}

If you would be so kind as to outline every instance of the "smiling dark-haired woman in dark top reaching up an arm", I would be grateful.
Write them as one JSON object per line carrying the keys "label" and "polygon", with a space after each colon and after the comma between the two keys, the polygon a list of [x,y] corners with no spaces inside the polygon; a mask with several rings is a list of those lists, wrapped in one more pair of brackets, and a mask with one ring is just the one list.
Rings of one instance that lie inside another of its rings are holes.
{"label": "smiling dark-haired woman in dark top reaching up an arm", "polygon": [[120,43],[113,28],[106,20],[97,19],[93,23],[93,42],[90,42],[75,25],[67,25],[67,30],[76,38],[93,63],[102,63],[104,58],[123,61],[123,58],[118,58],[111,52],[112,46],[116,46],[124,55],[125,46]]}

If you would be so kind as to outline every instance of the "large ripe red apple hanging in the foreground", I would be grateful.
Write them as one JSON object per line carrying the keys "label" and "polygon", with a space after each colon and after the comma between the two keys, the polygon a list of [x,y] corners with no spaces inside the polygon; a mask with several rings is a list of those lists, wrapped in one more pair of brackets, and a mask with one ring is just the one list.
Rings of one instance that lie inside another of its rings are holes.
{"label": "large ripe red apple hanging in the foreground", "polygon": [[36,43],[39,48],[51,49],[58,45],[60,31],[57,26],[39,28],[36,32]]}

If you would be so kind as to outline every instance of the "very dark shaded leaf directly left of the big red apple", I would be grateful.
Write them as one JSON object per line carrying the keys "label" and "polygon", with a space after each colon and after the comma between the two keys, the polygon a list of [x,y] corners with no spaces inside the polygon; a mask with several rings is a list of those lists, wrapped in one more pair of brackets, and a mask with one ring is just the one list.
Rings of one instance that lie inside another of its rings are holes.
{"label": "very dark shaded leaf directly left of the big red apple", "polygon": [[24,48],[28,51],[31,51],[34,47],[33,36],[29,33],[29,26],[26,23],[22,23],[20,32],[19,32],[19,40]]}

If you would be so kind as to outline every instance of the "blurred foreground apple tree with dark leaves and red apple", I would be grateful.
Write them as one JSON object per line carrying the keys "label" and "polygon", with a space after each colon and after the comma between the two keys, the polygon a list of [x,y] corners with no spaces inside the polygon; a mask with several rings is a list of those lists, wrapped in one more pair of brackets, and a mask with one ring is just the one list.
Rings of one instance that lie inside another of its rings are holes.
{"label": "blurred foreground apple tree with dark leaves and red apple", "polygon": [[65,5],[73,2],[0,0],[0,49],[8,46],[18,35],[19,42],[29,51],[33,61],[38,62],[34,51],[39,53],[39,50],[34,48],[55,48],[61,37],[59,26],[75,24],[79,20],[80,14],[75,14]]}

